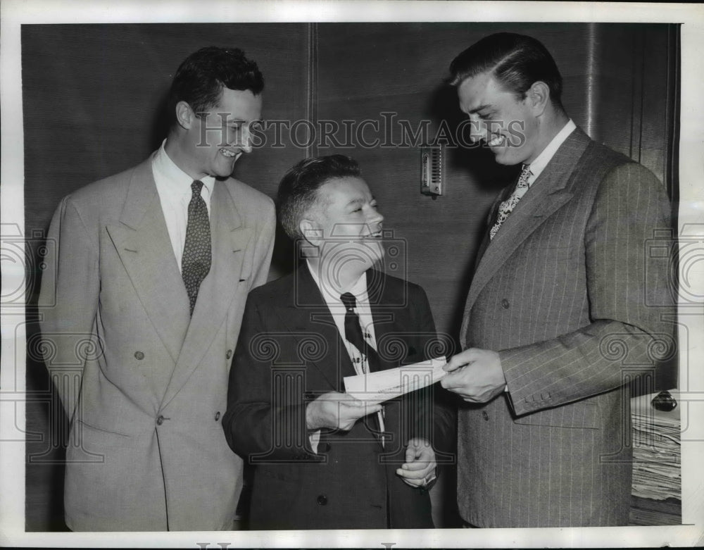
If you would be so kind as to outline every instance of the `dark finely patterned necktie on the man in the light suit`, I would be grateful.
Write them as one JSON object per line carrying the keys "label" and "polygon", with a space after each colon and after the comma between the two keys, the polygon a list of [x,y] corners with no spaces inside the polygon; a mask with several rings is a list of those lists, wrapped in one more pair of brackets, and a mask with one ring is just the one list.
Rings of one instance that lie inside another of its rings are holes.
{"label": "dark finely patterned necktie on the man in the light suit", "polygon": [[201,197],[201,189],[203,189],[203,182],[196,180],[191,183],[192,194],[188,204],[186,242],[183,246],[181,259],[181,276],[186,285],[186,292],[188,292],[191,315],[193,315],[193,308],[196,306],[198,289],[203,279],[208,275],[212,261],[208,206]]}

